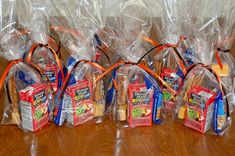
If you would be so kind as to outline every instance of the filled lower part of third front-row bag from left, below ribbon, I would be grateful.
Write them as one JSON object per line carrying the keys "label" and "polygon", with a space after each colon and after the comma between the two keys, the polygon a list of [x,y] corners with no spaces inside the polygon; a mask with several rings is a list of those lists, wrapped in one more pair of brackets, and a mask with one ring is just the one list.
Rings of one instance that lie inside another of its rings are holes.
{"label": "filled lower part of third front-row bag from left, below ribbon", "polygon": [[162,92],[157,82],[137,66],[117,70],[113,117],[118,127],[151,126],[162,121]]}

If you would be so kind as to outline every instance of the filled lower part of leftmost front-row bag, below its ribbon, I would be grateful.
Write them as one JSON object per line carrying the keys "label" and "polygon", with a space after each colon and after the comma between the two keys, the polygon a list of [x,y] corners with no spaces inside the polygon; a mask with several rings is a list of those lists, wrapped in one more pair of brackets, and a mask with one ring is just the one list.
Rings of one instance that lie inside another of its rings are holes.
{"label": "filled lower part of leftmost front-row bag, below its ribbon", "polygon": [[49,90],[42,75],[34,67],[20,62],[10,69],[5,80],[7,98],[3,125],[18,125],[36,132],[49,123]]}

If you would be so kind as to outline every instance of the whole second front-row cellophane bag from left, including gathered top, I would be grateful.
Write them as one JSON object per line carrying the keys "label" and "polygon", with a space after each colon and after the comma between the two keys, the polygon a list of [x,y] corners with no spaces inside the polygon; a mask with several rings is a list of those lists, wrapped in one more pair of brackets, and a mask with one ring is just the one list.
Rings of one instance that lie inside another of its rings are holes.
{"label": "whole second front-row cellophane bag from left, including gathered top", "polygon": [[60,21],[54,19],[52,24],[70,54],[67,59],[68,75],[56,109],[55,123],[62,125],[67,121],[72,126],[100,123],[105,113],[104,85],[102,79],[95,80],[105,69],[99,64],[95,36],[104,27],[102,1],[61,1],[54,5],[56,8],[65,6],[58,13],[68,26],[63,26],[61,31]]}

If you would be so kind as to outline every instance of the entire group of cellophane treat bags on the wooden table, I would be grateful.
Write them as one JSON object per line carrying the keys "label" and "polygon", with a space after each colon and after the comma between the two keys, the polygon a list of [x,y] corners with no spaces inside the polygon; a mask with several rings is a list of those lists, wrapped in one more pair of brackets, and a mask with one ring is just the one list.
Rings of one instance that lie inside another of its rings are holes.
{"label": "entire group of cellophane treat bags on the wooden table", "polygon": [[[224,134],[235,101],[228,53],[235,17],[232,1],[220,3],[128,0],[112,6],[118,16],[109,21],[100,0],[2,0],[1,56],[9,60],[2,123],[37,131],[49,121],[78,126],[109,114],[119,127],[173,119]],[[150,39],[152,27],[161,44]]]}

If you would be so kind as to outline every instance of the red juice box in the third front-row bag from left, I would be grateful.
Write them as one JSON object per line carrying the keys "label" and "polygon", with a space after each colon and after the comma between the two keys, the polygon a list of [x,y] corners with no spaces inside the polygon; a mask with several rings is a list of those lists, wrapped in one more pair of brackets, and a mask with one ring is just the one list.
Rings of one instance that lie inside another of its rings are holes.
{"label": "red juice box in the third front-row bag from left", "polygon": [[153,89],[144,83],[129,84],[128,124],[130,127],[152,125]]}

